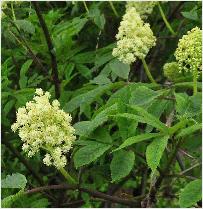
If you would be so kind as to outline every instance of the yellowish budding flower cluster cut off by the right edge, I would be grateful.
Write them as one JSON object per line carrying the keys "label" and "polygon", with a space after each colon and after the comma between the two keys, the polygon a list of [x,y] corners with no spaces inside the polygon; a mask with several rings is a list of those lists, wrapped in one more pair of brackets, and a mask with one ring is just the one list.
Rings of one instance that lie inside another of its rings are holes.
{"label": "yellowish budding flower cluster cut off by the right edge", "polygon": [[175,57],[180,72],[191,72],[198,76],[202,70],[202,30],[195,27],[188,31],[187,35],[179,40]]}

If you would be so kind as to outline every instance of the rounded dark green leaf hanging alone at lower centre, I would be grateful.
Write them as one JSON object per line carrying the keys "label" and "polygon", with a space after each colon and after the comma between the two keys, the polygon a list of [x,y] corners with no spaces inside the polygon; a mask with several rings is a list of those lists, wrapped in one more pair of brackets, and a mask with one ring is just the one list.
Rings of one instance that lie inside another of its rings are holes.
{"label": "rounded dark green leaf hanging alone at lower centre", "polygon": [[134,152],[125,150],[115,152],[110,165],[112,182],[118,181],[127,176],[133,169],[134,162]]}

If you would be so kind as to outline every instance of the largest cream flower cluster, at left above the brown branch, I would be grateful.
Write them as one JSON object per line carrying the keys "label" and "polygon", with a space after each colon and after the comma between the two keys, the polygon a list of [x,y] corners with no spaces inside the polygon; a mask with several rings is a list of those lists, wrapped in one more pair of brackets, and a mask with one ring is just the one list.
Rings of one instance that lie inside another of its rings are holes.
{"label": "largest cream flower cluster, at left above the brown branch", "polygon": [[57,169],[67,163],[65,154],[71,149],[75,140],[75,129],[71,126],[71,116],[59,109],[60,103],[54,100],[50,104],[49,92],[36,89],[33,101],[26,103],[17,111],[17,121],[11,129],[24,142],[22,149],[32,157],[40,149],[47,152],[43,162]]}

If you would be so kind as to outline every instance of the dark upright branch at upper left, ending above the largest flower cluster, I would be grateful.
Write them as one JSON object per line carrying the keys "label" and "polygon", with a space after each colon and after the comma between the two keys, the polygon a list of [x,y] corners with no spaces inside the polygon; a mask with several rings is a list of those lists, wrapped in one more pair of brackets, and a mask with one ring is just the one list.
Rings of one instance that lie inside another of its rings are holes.
{"label": "dark upright branch at upper left, ending above the largest flower cluster", "polygon": [[55,86],[55,94],[56,94],[56,98],[58,99],[60,97],[60,80],[59,80],[59,76],[58,76],[58,69],[57,69],[56,56],[54,53],[54,46],[53,46],[53,43],[51,40],[51,36],[49,34],[48,27],[47,27],[45,20],[41,14],[38,2],[33,1],[32,4],[35,8],[37,17],[39,19],[40,25],[41,25],[42,30],[44,32],[46,43],[47,43],[47,46],[49,49],[49,54],[51,57],[51,65],[52,65],[52,76],[53,76],[53,81],[54,81],[54,86]]}

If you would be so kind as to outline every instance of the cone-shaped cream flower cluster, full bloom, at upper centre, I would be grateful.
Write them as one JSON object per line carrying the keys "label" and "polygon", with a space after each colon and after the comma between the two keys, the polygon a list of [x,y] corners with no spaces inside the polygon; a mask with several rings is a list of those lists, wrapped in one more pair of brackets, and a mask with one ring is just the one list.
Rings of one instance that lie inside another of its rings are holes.
{"label": "cone-shaped cream flower cluster, full bloom, at upper centre", "polygon": [[144,59],[151,47],[155,46],[156,37],[148,23],[144,23],[135,8],[129,8],[120,23],[116,35],[117,47],[113,56],[126,64],[137,58]]}

